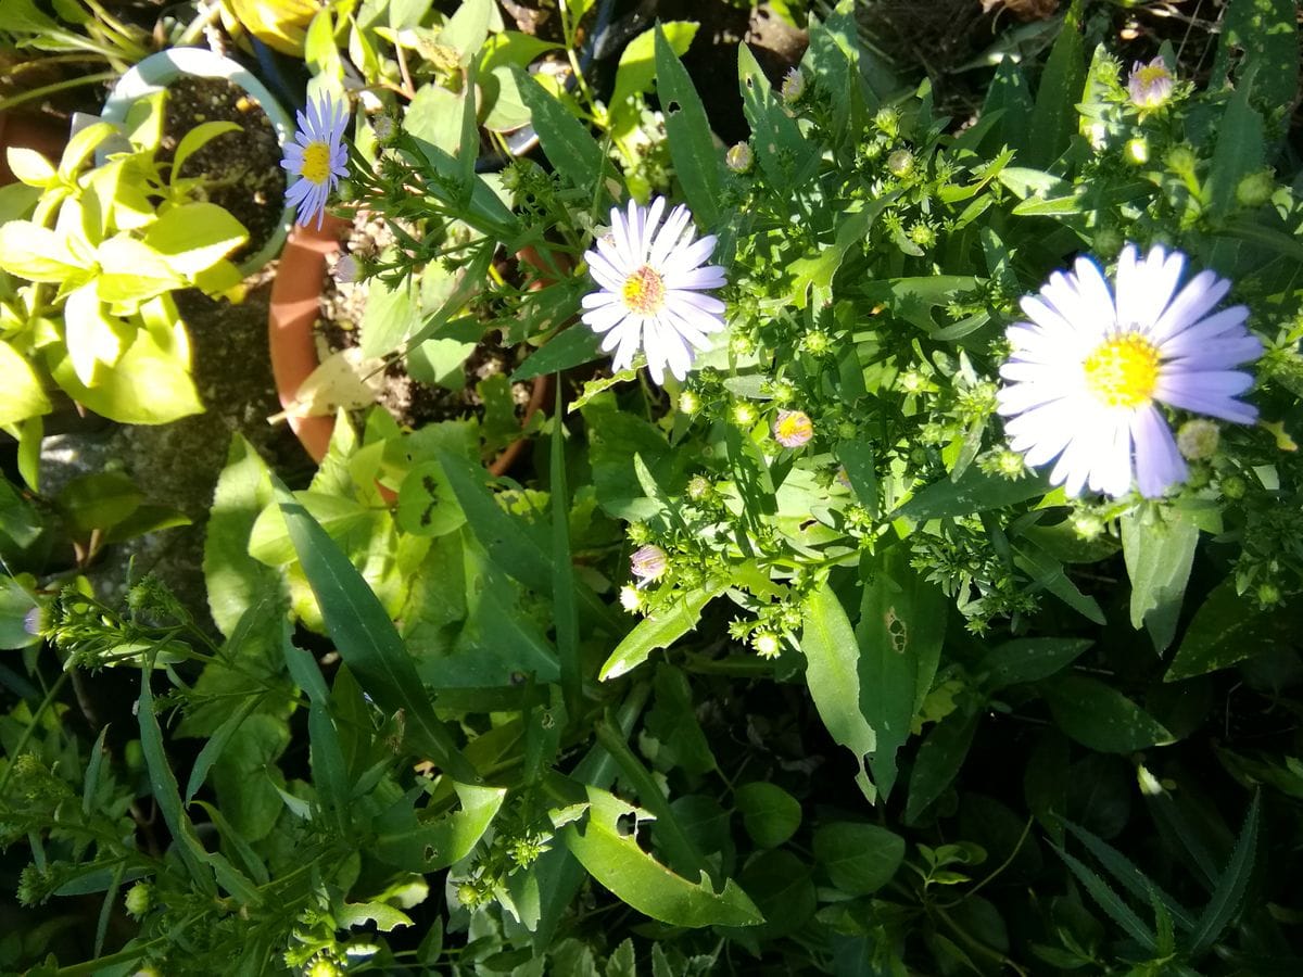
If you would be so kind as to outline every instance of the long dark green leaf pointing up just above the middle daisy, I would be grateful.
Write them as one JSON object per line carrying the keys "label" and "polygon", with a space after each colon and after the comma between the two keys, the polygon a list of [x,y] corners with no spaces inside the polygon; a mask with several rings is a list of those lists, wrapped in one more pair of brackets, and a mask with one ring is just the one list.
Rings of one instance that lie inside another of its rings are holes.
{"label": "long dark green leaf pointing up just above the middle daisy", "polygon": [[[674,172],[688,198],[693,218],[706,228],[719,220],[719,152],[710,134],[710,120],[701,96],[679,56],[687,51],[683,38],[655,35],[657,94],[665,109],[665,132]],[[693,25],[696,31],[696,25]],[[692,35],[687,35],[691,43]]]}

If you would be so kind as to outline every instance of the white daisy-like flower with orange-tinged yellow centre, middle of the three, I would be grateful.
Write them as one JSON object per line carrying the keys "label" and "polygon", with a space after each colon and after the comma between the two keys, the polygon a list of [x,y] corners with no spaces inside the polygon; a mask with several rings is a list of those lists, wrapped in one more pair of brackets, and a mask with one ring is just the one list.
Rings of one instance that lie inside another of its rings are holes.
{"label": "white daisy-like flower with orange-tinged yellow centre, middle of the three", "polygon": [[629,201],[628,214],[612,207],[610,234],[584,253],[599,288],[584,296],[581,318],[594,332],[606,333],[602,349],[615,350],[612,370],[628,369],[641,348],[657,383],[665,383],[667,366],[684,379],[693,348],[708,349],[706,336],[724,327],[724,304],[702,294],[724,284],[723,268],[702,266],[715,249],[715,236],[693,241],[692,215],[683,205],[662,227],[665,206],[657,197],[649,207]]}

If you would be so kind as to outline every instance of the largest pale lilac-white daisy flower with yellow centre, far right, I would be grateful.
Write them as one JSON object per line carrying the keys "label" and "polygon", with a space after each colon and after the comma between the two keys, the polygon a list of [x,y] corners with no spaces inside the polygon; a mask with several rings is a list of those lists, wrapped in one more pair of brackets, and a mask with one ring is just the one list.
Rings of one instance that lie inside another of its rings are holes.
{"label": "largest pale lilac-white daisy flower with yellow centre, far right", "polygon": [[1154,498],[1186,478],[1186,461],[1156,403],[1252,423],[1257,410],[1235,397],[1253,378],[1230,367],[1252,362],[1263,344],[1244,327],[1248,310],[1213,313],[1230,283],[1201,271],[1178,290],[1186,257],[1127,245],[1113,292],[1100,267],[1079,258],[1022,301],[1029,322],[1009,327],[1014,353],[997,409],[1010,447],[1027,464],[1058,462],[1050,482],[1070,496],[1126,495],[1132,482]]}

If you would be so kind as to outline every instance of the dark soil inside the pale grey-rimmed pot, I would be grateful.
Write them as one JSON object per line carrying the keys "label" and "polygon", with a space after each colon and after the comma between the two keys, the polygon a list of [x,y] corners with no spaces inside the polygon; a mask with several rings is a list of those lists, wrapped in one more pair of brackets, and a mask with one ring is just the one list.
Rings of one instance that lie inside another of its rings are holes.
{"label": "dark soil inside the pale grey-rimmed pot", "polygon": [[237,264],[276,233],[284,214],[285,171],[280,141],[262,106],[224,78],[179,78],[167,87],[159,159],[171,162],[177,143],[199,122],[229,121],[224,133],[185,160],[180,176],[203,176],[203,195],[244,224],[249,241],[231,254]]}

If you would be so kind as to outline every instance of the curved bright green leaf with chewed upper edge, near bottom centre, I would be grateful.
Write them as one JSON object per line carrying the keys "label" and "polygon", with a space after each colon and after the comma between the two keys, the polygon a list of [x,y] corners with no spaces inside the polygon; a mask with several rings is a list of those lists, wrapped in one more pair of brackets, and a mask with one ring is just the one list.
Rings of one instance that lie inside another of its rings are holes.
{"label": "curved bright green leaf with chewed upper edge, near bottom centre", "polygon": [[676,875],[638,848],[637,832],[623,830],[628,819],[650,815],[593,786],[588,814],[560,830],[569,852],[594,879],[653,920],[671,926],[751,926],[764,922],[760,911],[737,885],[728,879],[721,892],[710,888],[702,874],[700,885]]}

